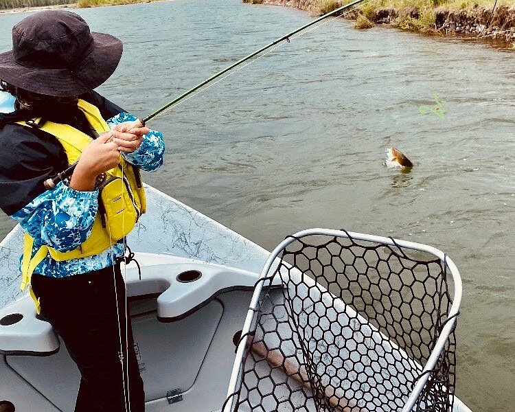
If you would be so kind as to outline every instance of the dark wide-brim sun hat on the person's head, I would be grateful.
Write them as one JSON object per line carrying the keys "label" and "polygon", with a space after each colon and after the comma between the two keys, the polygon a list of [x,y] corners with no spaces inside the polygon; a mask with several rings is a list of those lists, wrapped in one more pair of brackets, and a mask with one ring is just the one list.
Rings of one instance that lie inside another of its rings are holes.
{"label": "dark wide-brim sun hat on the person's head", "polygon": [[87,93],[115,71],[123,45],[89,30],[78,14],[45,10],[12,28],[12,50],[0,54],[0,80],[58,97]]}

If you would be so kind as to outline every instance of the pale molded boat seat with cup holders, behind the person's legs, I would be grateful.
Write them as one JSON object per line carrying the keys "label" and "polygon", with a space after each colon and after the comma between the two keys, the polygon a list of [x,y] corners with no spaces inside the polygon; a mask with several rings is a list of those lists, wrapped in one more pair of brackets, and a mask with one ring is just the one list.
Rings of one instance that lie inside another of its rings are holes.
{"label": "pale molded boat seat with cup holders, behind the person's legs", "polygon": [[[122,268],[129,299],[157,297],[157,319],[178,321],[201,308],[220,293],[252,290],[259,274],[238,268],[208,264],[188,258],[136,253],[141,279],[134,262]],[[279,285],[279,284],[278,284]],[[59,350],[52,325],[39,319],[30,296],[0,309],[0,354],[48,356]]]}

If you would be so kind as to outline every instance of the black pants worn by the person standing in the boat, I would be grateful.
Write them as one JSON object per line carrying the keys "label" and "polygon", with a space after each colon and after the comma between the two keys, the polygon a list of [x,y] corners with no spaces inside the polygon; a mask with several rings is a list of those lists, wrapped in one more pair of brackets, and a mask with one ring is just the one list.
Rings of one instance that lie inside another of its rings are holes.
{"label": "black pants worn by the person standing in the boat", "polygon": [[75,412],[145,410],[119,264],[114,271],[115,275],[111,266],[64,278],[32,275],[41,315],[59,334],[80,371]]}

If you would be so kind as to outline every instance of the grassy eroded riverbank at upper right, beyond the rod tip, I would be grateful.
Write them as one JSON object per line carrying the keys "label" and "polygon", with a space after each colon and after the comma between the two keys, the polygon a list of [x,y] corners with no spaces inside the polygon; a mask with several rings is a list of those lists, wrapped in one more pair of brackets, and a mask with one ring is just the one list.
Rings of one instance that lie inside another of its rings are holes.
{"label": "grassy eroded riverbank at upper right, beyond the rod tip", "polygon": [[[312,14],[335,10],[347,1],[335,0],[243,0],[247,3],[285,5]],[[355,21],[354,27],[366,29],[374,25],[389,25],[401,30],[438,36],[482,38],[515,43],[515,8],[512,2],[492,4],[470,0],[380,0],[371,1],[351,12],[345,19]]]}

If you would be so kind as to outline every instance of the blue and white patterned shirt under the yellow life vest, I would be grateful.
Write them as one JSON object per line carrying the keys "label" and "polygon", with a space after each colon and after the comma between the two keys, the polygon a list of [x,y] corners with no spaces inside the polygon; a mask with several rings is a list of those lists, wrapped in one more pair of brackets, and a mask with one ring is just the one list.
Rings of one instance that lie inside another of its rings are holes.
{"label": "blue and white patterned shirt under the yellow life vest", "polygon": [[[128,113],[119,113],[108,119],[110,127],[123,122],[133,122],[137,118]],[[124,158],[141,170],[156,170],[163,164],[165,145],[163,135],[155,130],[144,136],[141,145],[132,153],[124,153]],[[88,238],[98,211],[98,190],[81,192],[60,182],[54,190],[43,192],[11,217],[34,238],[32,253],[46,244],[58,251],[76,249]],[[111,266],[116,258],[124,255],[124,242],[113,244],[98,255],[87,258],[57,262],[47,256],[34,270],[34,273],[50,277],[65,277],[97,271]]]}

